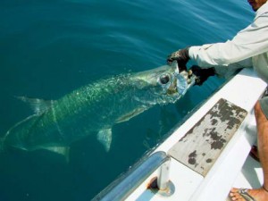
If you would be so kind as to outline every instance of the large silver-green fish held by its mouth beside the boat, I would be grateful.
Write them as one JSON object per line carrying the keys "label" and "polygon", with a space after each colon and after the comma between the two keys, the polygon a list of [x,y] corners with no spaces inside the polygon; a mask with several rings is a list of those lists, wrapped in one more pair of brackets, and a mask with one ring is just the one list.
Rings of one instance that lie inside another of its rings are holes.
{"label": "large silver-green fish held by its mouth beside the boat", "polygon": [[20,97],[35,113],[1,138],[2,150],[48,149],[66,155],[72,142],[97,133],[108,151],[115,123],[128,121],[154,105],[175,103],[194,84],[178,64],[98,80],[55,101]]}

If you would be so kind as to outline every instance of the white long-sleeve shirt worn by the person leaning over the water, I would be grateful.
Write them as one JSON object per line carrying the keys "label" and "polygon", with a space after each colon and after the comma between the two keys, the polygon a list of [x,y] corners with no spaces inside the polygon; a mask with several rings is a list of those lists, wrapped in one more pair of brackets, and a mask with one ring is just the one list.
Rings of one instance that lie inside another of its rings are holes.
{"label": "white long-sleeve shirt worn by the person leaning over the water", "polygon": [[214,66],[219,74],[253,66],[268,83],[268,2],[256,11],[252,24],[231,40],[191,46],[188,54],[201,68]]}

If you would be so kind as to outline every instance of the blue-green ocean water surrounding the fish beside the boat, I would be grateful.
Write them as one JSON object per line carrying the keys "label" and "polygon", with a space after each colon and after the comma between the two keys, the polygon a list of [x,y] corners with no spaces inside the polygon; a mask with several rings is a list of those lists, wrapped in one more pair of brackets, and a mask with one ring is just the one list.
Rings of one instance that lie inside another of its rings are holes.
{"label": "blue-green ocean water surrounding the fish beside the boat", "polygon": [[[146,71],[179,48],[230,39],[253,18],[247,1],[1,0],[0,136],[32,114],[14,96],[55,100],[98,79]],[[69,163],[42,150],[1,154],[0,200],[90,200],[224,81],[211,78],[174,105],[115,125],[109,153],[90,136],[71,146]]]}

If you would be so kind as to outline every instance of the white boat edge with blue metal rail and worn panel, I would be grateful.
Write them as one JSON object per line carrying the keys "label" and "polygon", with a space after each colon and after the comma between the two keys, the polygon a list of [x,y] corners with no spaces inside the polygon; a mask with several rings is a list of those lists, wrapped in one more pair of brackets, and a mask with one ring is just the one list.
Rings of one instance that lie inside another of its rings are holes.
{"label": "white boat edge with blue metal rail and worn panel", "polygon": [[229,200],[230,188],[260,188],[255,102],[266,83],[251,68],[239,71],[168,138],[93,200]]}

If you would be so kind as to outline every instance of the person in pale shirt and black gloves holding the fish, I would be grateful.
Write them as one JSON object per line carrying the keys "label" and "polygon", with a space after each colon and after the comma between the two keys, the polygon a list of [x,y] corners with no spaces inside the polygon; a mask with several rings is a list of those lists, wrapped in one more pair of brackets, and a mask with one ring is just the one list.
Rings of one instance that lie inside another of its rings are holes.
{"label": "person in pale shirt and black gloves holding the fish", "polygon": [[[193,67],[197,74],[198,85],[208,77],[229,76],[239,68],[252,67],[258,76],[268,83],[268,2],[267,0],[247,0],[255,11],[254,21],[231,40],[225,43],[189,46],[180,49],[167,58],[171,63],[176,60],[179,69],[185,70],[188,60],[194,60],[199,67]],[[262,188],[231,188],[231,200],[268,200],[268,96],[255,104],[257,129],[257,148],[264,172]]]}

